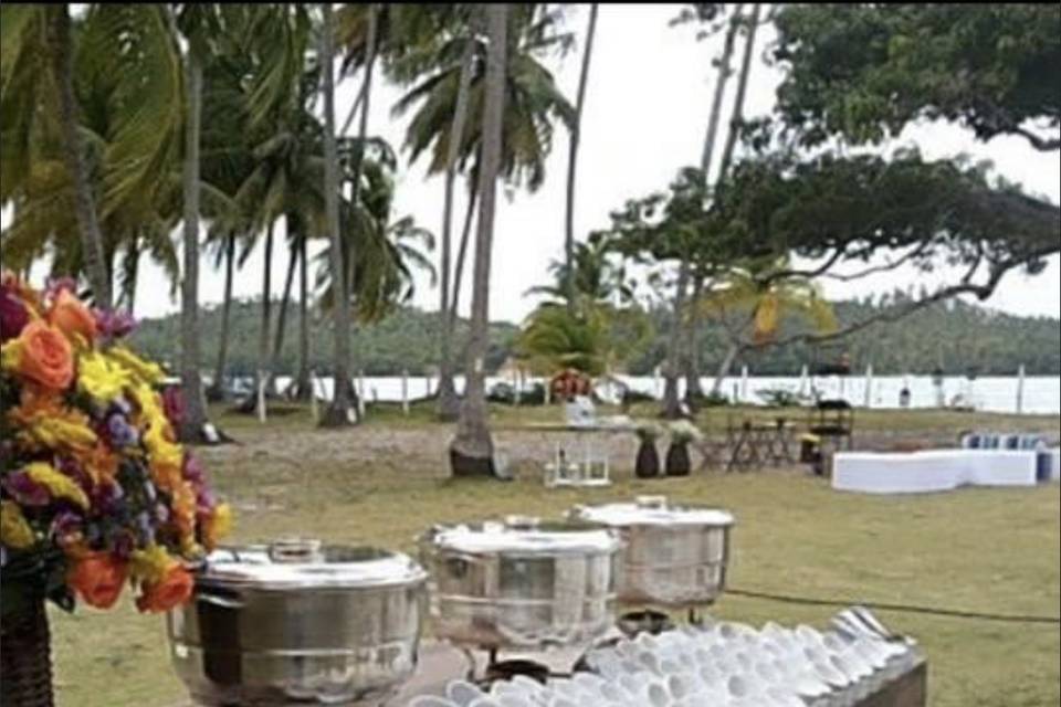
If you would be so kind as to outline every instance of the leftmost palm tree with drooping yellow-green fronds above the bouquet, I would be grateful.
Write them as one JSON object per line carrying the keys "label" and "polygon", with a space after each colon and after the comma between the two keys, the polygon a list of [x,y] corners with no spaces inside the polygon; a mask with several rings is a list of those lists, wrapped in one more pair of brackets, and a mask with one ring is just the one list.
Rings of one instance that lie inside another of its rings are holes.
{"label": "leftmost palm tree with drooping yellow-green fronds above the bouquet", "polygon": [[15,207],[4,260],[32,258],[51,243],[53,272],[85,274],[96,303],[109,306],[118,253],[126,293],[134,254],[147,249],[172,265],[158,238],[160,194],[175,187],[167,175],[183,80],[166,12],[88,6],[72,22],[65,3],[8,3],[0,17],[0,202]]}

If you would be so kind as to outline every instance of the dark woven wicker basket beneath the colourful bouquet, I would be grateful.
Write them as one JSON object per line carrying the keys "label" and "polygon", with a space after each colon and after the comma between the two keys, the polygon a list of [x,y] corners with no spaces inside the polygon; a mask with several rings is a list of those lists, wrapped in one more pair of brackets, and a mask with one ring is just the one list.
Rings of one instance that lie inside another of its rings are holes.
{"label": "dark woven wicker basket beneath the colourful bouquet", "polygon": [[44,600],[0,625],[0,706],[53,707],[51,636]]}

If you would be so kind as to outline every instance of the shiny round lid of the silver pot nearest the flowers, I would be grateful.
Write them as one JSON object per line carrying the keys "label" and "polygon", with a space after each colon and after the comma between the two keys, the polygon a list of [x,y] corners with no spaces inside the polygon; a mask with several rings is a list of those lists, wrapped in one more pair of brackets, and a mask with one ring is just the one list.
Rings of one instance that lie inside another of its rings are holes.
{"label": "shiny round lid of the silver pot nearest the flowers", "polygon": [[412,585],[427,577],[400,552],[300,539],[218,548],[207,557],[198,581],[262,589],[367,589]]}

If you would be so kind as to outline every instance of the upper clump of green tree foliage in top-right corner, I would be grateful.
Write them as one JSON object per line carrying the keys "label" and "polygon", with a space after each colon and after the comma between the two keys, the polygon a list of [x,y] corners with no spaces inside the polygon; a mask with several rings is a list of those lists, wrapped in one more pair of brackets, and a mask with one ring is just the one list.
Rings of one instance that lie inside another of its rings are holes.
{"label": "upper clump of green tree foliage in top-right corner", "polygon": [[926,117],[1061,147],[1058,3],[791,4],[776,24],[778,108],[805,144],[878,143]]}

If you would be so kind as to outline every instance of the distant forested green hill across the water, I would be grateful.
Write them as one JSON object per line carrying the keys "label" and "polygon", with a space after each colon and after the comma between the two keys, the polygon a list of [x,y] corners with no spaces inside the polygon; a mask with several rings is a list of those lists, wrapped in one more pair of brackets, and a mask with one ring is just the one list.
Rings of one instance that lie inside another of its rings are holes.
{"label": "distant forested green hill across the water", "polygon": [[[1053,295],[1055,296],[1055,294]],[[847,300],[836,303],[841,321],[858,321],[895,306],[885,302]],[[275,327],[275,312],[274,327]],[[203,367],[212,369],[221,330],[220,308],[207,309],[199,318],[202,327]],[[654,341],[628,366],[631,373],[652,371],[663,360],[668,316],[653,313],[658,328]],[[229,372],[249,374],[256,361],[260,308],[254,302],[232,306],[229,342]],[[311,359],[319,371],[329,368],[332,331],[328,319],[315,318],[311,329]],[[277,368],[291,372],[297,365],[297,313],[287,317],[286,336]],[[788,333],[798,326],[787,325]],[[466,337],[465,323],[459,325],[459,346]],[[438,357],[435,315],[418,309],[401,309],[387,319],[359,326],[353,336],[353,354],[357,369],[369,376],[400,373],[407,369],[417,374],[432,370]],[[494,323],[491,330],[487,368],[493,370],[508,357],[517,328],[510,323]],[[146,352],[176,363],[179,346],[177,315],[141,323],[134,342]],[[895,323],[882,323],[851,337],[815,349],[802,345],[770,348],[747,354],[740,362],[758,374],[796,374],[805,363],[834,361],[842,352],[851,356],[852,366],[862,369],[872,363],[879,374],[927,373],[936,368],[948,374],[962,374],[970,368],[981,376],[1011,374],[1023,363],[1029,374],[1061,373],[1061,321],[1047,317],[1017,317],[999,314],[960,302],[939,304],[912,314]],[[721,333],[711,325],[701,337],[701,355],[705,376],[714,373],[725,352]]]}

